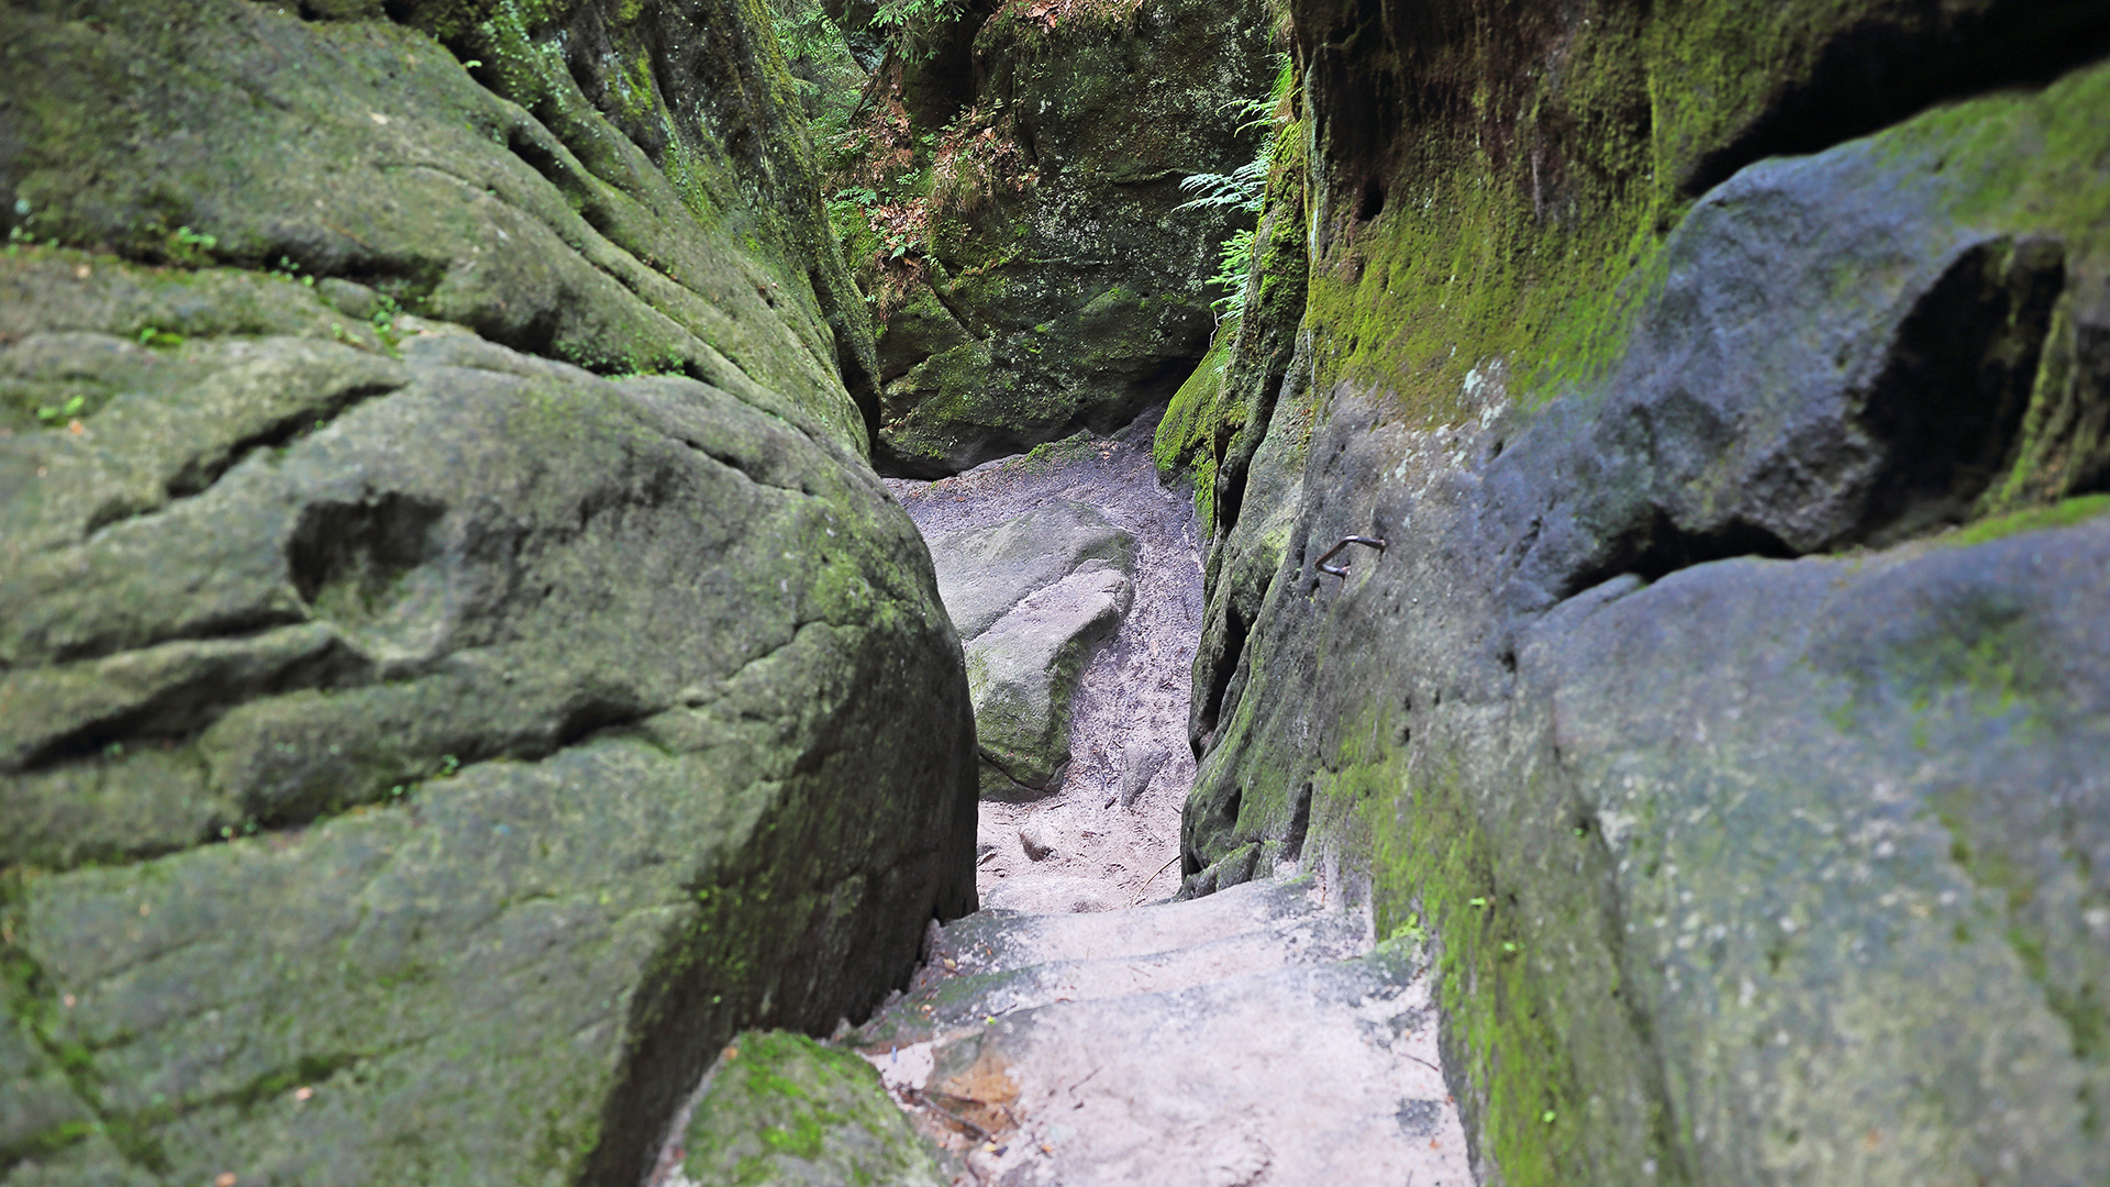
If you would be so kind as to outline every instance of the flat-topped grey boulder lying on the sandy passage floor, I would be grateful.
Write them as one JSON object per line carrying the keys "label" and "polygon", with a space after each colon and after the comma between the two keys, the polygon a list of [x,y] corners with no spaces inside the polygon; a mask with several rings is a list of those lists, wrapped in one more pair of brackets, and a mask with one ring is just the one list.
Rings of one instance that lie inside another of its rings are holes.
{"label": "flat-topped grey boulder lying on the sandy passage floor", "polygon": [[1070,765],[1070,705],[1093,646],[1129,610],[1135,536],[1055,501],[994,528],[931,539],[939,596],[966,648],[981,790],[1036,796]]}

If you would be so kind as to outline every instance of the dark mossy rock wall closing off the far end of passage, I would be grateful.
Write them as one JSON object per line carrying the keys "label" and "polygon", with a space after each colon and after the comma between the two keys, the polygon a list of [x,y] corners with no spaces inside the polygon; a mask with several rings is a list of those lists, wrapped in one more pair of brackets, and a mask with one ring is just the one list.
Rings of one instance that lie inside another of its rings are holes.
{"label": "dark mossy rock wall closing off the far end of passage", "polygon": [[[1274,74],[1260,4],[1078,6],[1053,27],[1025,13],[987,17],[971,63],[905,68],[914,135],[977,135],[882,194],[928,207],[880,329],[874,456],[890,473],[956,473],[1169,399],[1209,348],[1217,243],[1251,218],[1175,207],[1182,177],[1258,152],[1232,108]],[[884,241],[850,249],[871,287],[893,283]]]}

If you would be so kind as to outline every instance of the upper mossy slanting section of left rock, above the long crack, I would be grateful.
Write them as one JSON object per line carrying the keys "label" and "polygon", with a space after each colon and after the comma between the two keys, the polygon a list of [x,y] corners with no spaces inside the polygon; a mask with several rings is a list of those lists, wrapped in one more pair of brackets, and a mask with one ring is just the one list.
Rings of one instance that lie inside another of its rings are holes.
{"label": "upper mossy slanting section of left rock, above the long crack", "polygon": [[11,6],[0,222],[346,277],[601,374],[774,391],[863,448],[844,376],[871,395],[869,325],[766,17],[409,8],[416,27],[236,0]]}

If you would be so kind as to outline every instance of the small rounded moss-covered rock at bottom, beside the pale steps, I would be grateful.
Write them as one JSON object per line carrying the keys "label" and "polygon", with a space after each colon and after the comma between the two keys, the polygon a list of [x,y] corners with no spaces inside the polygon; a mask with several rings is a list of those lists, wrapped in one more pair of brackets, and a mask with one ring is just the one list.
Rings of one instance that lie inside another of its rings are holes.
{"label": "small rounded moss-covered rock at bottom, beside the pale steps", "polygon": [[711,1187],[952,1181],[869,1062],[783,1031],[749,1031],[720,1052],[679,1166]]}

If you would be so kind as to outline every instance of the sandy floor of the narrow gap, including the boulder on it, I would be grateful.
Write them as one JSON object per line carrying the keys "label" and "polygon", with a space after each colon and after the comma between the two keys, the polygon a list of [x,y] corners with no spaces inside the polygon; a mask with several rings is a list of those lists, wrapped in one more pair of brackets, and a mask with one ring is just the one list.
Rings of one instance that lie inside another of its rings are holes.
{"label": "sandy floor of the narrow gap, including the boulder on it", "polygon": [[[888,479],[968,655],[983,908],[1118,910],[1179,889],[1201,551],[1192,498],[1158,484],[1156,420],[937,482]],[[1051,718],[1053,735],[1036,729]]]}

